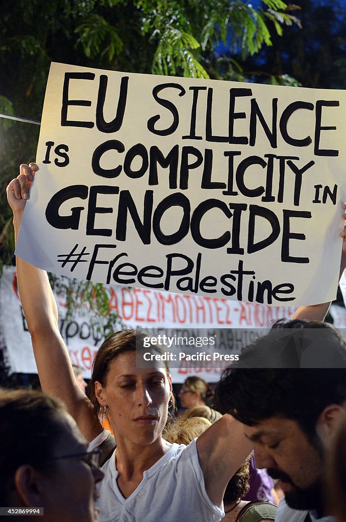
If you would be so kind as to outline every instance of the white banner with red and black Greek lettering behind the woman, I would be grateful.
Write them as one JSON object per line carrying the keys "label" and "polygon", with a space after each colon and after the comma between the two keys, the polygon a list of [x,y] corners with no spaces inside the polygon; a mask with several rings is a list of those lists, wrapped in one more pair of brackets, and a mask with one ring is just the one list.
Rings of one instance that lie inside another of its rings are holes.
{"label": "white banner with red and black Greek lettering behind the woman", "polygon": [[[122,317],[125,328],[141,327],[153,333],[167,336],[201,337],[215,334],[218,342],[196,351],[209,354],[234,352],[244,348],[257,335],[259,328],[268,327],[273,321],[290,319],[295,307],[275,307],[255,303],[238,303],[209,296],[191,296],[181,293],[135,288],[133,290],[110,286],[110,312]],[[66,303],[55,294],[59,309],[59,329],[66,343],[72,364],[84,368],[89,378],[96,352],[104,340],[100,331],[90,326],[87,312],[66,318]],[[235,331],[238,329],[238,331]],[[4,354],[11,372],[37,373],[33,357],[31,337],[21,309],[17,290],[15,267],[4,267],[0,280],[0,336],[3,338]],[[187,350],[188,351],[188,350]],[[189,375],[198,375],[208,382],[216,382],[227,361],[213,360],[210,364],[194,364],[182,360],[172,365],[174,383],[181,383]]]}

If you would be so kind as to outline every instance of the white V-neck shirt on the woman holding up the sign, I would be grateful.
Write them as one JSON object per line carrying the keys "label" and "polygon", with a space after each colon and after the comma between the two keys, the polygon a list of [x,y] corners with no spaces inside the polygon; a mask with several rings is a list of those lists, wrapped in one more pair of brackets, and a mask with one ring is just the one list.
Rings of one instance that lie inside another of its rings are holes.
{"label": "white V-neck shirt on the woman holding up the sign", "polygon": [[[105,438],[98,436],[89,449]],[[135,491],[125,499],[119,491],[114,453],[102,467],[96,502],[100,522],[218,522],[224,512],[209,499],[197,454],[197,439],[188,446],[172,444],[151,468],[144,471]]]}

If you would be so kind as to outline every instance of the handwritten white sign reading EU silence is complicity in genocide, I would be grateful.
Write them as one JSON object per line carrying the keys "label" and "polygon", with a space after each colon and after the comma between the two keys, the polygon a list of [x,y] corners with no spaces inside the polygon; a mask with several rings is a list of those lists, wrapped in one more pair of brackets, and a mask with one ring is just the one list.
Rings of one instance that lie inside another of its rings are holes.
{"label": "handwritten white sign reading EU silence is complicity in genocide", "polygon": [[52,64],[17,255],[276,306],[335,298],[346,91]]}

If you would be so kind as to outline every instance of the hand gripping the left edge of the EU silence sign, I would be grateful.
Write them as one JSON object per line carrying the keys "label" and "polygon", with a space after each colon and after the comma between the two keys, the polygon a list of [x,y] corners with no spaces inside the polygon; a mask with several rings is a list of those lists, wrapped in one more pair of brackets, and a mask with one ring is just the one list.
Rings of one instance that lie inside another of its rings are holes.
{"label": "hand gripping the left edge of the EU silence sign", "polygon": [[7,186],[7,201],[13,213],[23,211],[26,200],[29,199],[30,185],[36,171],[36,163],[22,163],[19,167],[19,175],[11,180]]}

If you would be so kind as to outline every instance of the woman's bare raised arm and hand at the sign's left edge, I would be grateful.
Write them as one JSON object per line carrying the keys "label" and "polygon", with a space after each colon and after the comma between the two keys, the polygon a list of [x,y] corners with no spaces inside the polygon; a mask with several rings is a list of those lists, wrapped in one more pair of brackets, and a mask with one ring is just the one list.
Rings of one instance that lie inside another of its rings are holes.
{"label": "woman's bare raised arm and hand at the sign's left edge", "polygon": [[[16,238],[26,200],[29,198],[29,188],[37,170],[36,163],[20,165],[19,175],[7,187]],[[16,266],[20,299],[32,339],[42,390],[65,402],[79,429],[91,441],[102,428],[89,399],[77,385],[70,357],[58,328],[57,306],[47,272],[29,265],[19,257],[16,259]]]}

